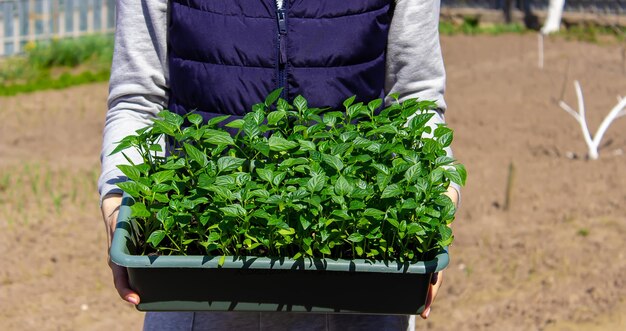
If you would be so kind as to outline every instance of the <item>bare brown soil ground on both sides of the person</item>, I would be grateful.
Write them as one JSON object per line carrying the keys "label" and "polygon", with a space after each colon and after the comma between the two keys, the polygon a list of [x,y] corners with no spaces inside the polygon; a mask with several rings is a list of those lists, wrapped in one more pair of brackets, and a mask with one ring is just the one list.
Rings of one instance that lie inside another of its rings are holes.
{"label": "bare brown soil ground on both sides of the person", "polygon": [[[534,35],[442,40],[447,120],[468,185],[444,287],[418,330],[626,330],[626,118],[585,159],[572,82],[595,131],[626,94],[624,45]],[[105,264],[95,180],[106,84],[0,98],[0,325],[137,330]],[[507,177],[514,180],[504,210]]]}

